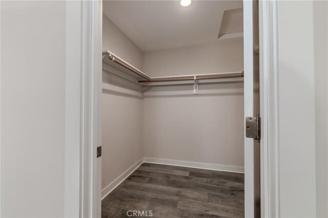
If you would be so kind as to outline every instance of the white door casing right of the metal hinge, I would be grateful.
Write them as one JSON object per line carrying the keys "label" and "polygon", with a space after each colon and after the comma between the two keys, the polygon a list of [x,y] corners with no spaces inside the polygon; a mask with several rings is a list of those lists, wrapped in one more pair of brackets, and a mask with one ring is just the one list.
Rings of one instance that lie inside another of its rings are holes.
{"label": "white door casing right of the metal hinge", "polygon": [[278,12],[277,1],[261,1],[261,216],[280,217],[278,150]]}

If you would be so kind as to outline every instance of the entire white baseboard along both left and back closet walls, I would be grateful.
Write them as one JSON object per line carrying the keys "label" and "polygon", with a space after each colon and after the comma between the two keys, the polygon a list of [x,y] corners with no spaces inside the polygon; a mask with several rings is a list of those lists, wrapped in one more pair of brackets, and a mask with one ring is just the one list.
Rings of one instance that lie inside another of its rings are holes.
{"label": "entire white baseboard along both left and back closet walls", "polygon": [[156,163],[156,164],[166,164],[166,165],[173,165],[173,166],[185,166],[185,167],[192,167],[192,168],[199,168],[199,169],[211,169],[211,170],[219,170],[219,171],[227,171],[227,172],[244,173],[244,168],[240,166],[228,166],[228,165],[198,163],[198,162],[190,162],[190,161],[177,161],[177,160],[168,160],[168,159],[160,159],[160,158],[141,158],[127,171],[122,173],[122,175],[120,175],[116,180],[114,180],[106,188],[101,190],[101,200],[106,198],[106,196],[109,193],[111,193],[119,184],[121,184],[125,179],[127,179],[132,174],[132,172],[134,172],[142,163]]}

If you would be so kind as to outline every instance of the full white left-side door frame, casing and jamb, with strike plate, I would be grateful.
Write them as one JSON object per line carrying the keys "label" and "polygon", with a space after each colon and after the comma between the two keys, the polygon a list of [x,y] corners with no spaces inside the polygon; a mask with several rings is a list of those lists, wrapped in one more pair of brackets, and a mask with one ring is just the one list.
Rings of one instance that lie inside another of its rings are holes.
{"label": "full white left-side door frame, casing and jamb, with strike plate", "polygon": [[102,1],[83,1],[81,17],[80,214],[101,216],[101,42]]}

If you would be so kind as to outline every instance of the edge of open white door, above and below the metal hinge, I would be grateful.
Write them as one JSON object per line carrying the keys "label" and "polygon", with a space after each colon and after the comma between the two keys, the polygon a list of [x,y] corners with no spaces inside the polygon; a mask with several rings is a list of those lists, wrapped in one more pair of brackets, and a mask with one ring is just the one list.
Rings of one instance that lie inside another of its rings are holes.
{"label": "edge of open white door, above and below the metal hinge", "polygon": [[[258,1],[244,1],[243,22],[246,118],[256,117],[260,111]],[[248,136],[250,137],[250,134]],[[246,130],[244,137],[245,217],[260,217],[260,140],[247,138]]]}

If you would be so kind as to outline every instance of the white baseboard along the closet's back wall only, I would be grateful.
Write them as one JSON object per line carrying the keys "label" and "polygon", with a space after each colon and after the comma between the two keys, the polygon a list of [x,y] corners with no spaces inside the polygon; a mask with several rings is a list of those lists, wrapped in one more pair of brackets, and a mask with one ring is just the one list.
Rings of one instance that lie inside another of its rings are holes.
{"label": "white baseboard along the closet's back wall only", "polygon": [[199,163],[199,162],[190,162],[190,161],[177,161],[177,160],[168,160],[168,159],[160,159],[160,158],[144,158],[144,162],[244,173],[244,168],[240,166],[219,165],[219,164]]}

